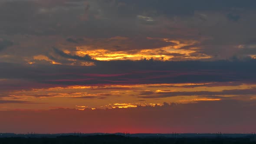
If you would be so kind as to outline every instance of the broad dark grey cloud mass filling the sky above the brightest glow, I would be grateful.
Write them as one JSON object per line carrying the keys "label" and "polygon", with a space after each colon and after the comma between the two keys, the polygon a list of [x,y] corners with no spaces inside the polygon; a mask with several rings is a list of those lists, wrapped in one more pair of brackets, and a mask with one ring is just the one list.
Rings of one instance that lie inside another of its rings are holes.
{"label": "broad dark grey cloud mass filling the sky above the brightest glow", "polygon": [[[16,39],[17,42],[27,40],[32,43],[30,36],[61,36],[68,38],[63,39],[70,42],[68,45],[92,49],[99,47],[97,39],[104,38],[100,48],[131,52],[173,46],[159,40],[148,40],[147,37],[190,39],[200,42],[193,45],[200,48],[194,56],[207,54],[218,60],[256,54],[237,48],[255,44],[252,43],[255,42],[255,5],[253,0],[4,0],[0,3],[0,31],[10,38],[19,34],[28,36],[27,39]],[[128,37],[127,45],[122,45],[124,41],[109,45],[107,39],[115,36]],[[82,38],[95,40],[80,43],[78,39]],[[45,45],[46,42],[42,42],[33,46],[33,50],[22,47],[23,51],[29,52],[21,57],[25,59],[28,55],[46,51],[50,46]],[[66,43],[60,45],[65,47]],[[56,47],[65,49],[60,45]],[[193,46],[183,49],[193,49]],[[17,49],[18,46],[7,54],[16,56],[13,51]],[[181,60],[184,56],[175,52],[161,54],[174,56],[171,60]]]}

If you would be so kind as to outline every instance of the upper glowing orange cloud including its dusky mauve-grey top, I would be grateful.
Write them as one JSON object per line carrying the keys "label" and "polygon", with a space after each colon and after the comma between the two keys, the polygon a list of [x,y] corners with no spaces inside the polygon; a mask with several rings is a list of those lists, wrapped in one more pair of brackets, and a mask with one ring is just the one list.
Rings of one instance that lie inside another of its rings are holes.
{"label": "upper glowing orange cloud including its dusky mauve-grey top", "polygon": [[[174,40],[148,37],[142,39],[140,42],[136,39],[115,36],[109,39],[85,39],[85,41],[85,44],[77,44],[76,49],[67,48],[64,49],[63,52],[81,57],[89,55],[92,59],[99,61],[141,60],[152,58],[155,60],[176,61],[212,58],[207,54],[200,53],[198,51],[200,49],[199,47],[194,47],[195,44],[200,43],[195,40]],[[146,44],[143,45],[140,43]],[[185,46],[191,46],[191,48],[183,49]]]}

